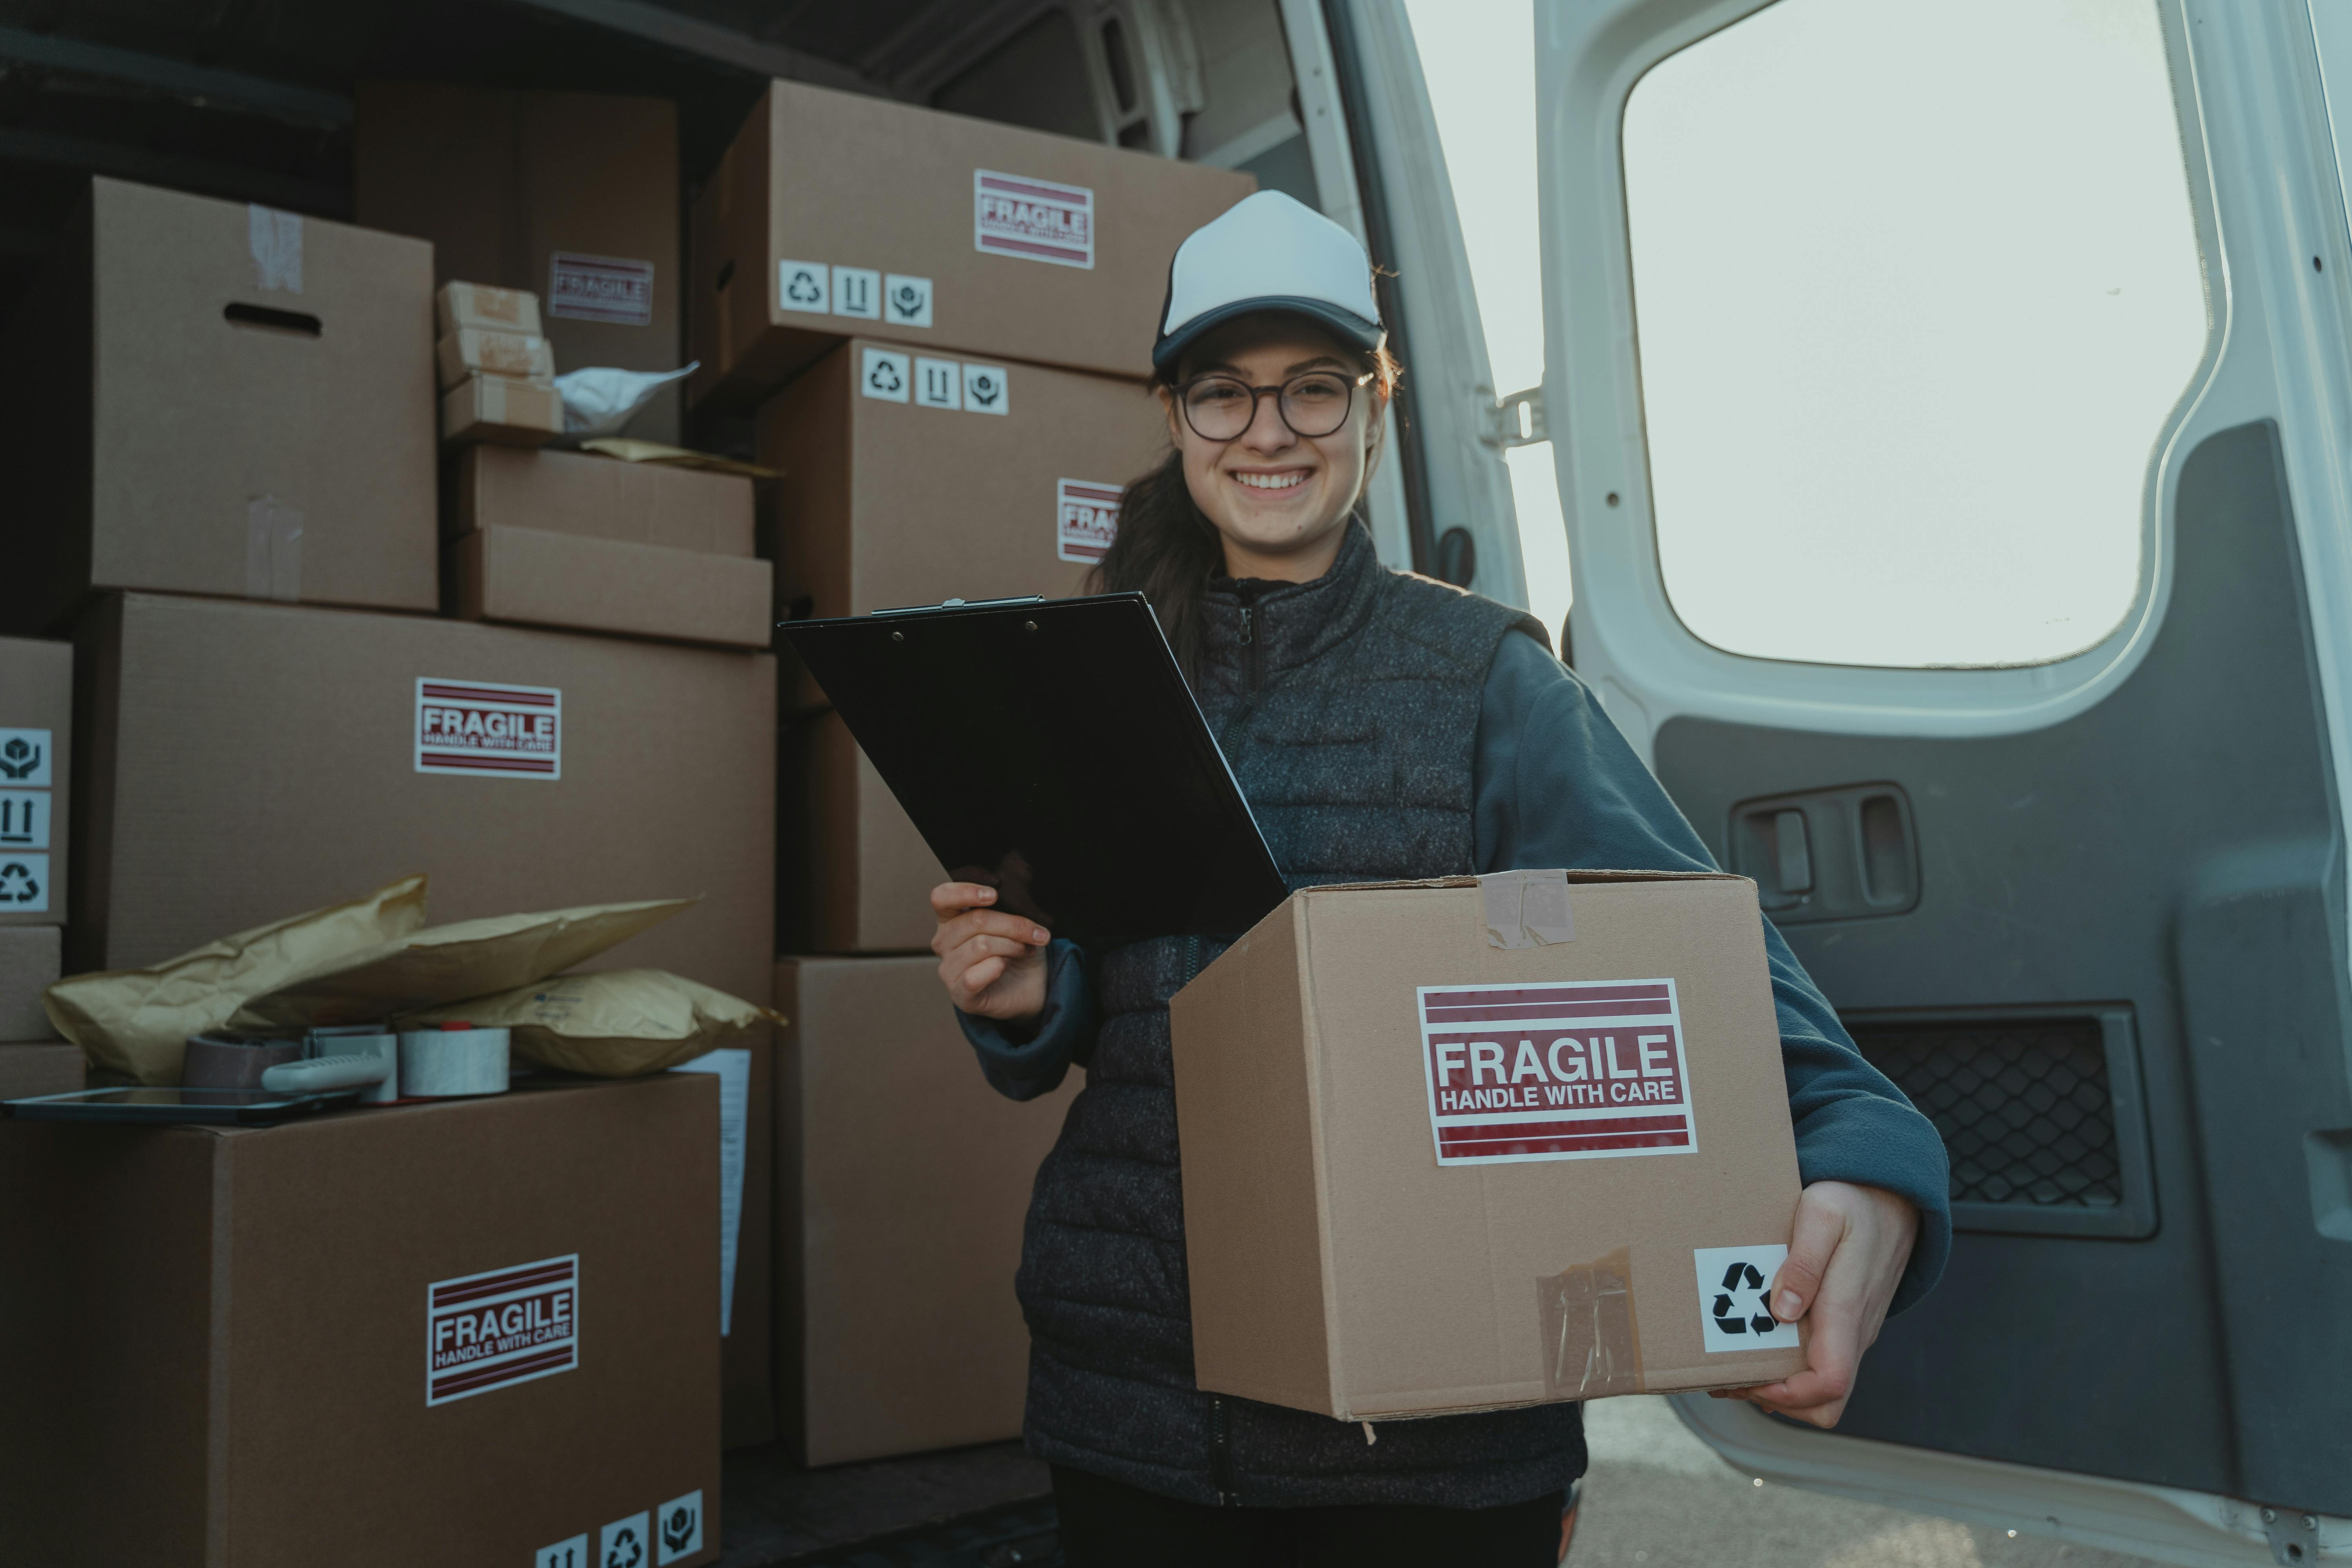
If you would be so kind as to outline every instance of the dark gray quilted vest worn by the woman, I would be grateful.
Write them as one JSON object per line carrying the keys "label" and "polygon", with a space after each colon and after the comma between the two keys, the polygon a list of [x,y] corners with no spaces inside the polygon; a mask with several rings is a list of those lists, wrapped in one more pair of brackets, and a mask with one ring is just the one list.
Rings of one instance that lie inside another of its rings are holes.
{"label": "dark gray quilted vest worn by the woman", "polygon": [[[1197,696],[1294,889],[1472,865],[1479,696],[1529,616],[1378,564],[1218,581]],[[1576,1406],[1364,1427],[1192,1387],[1167,1001],[1225,943],[1101,954],[1087,1086],[1037,1171],[1018,1293],[1037,1455],[1204,1505],[1496,1507],[1583,1472]]]}

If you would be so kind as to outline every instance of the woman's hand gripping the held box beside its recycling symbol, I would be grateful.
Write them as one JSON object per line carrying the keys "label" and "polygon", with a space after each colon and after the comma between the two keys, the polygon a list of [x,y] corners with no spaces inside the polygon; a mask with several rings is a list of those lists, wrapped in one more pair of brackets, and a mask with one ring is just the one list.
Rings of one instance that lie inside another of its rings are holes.
{"label": "woman's hand gripping the held box beside its recycling symbol", "polygon": [[1788,1262],[1773,1276],[1771,1314],[1783,1324],[1804,1316],[1813,1335],[1804,1371],[1755,1389],[1712,1389],[1717,1399],[1748,1399],[1816,1427],[1835,1427],[1853,1394],[1863,1352],[1879,1338],[1886,1305],[1919,1237],[1919,1211],[1884,1187],[1813,1182],[1797,1199],[1797,1229]]}

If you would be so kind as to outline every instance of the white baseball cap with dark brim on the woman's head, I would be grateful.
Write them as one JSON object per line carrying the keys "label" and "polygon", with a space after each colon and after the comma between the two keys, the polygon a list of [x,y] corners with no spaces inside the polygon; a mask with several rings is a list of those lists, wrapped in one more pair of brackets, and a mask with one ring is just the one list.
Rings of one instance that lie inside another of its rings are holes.
{"label": "white baseball cap with dark brim on the woman's head", "polygon": [[1388,339],[1371,256],[1355,235],[1279,190],[1258,190],[1176,247],[1152,369],[1174,371],[1204,331],[1261,310],[1303,315],[1364,350]]}

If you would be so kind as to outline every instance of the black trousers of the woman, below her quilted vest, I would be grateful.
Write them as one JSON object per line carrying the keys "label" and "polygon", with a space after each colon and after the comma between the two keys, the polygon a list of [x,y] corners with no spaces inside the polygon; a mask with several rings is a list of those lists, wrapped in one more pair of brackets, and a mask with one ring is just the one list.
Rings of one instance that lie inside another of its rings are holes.
{"label": "black trousers of the woman, below her quilted vest", "polygon": [[1068,1568],[1555,1568],[1564,1500],[1211,1509],[1054,1467]]}

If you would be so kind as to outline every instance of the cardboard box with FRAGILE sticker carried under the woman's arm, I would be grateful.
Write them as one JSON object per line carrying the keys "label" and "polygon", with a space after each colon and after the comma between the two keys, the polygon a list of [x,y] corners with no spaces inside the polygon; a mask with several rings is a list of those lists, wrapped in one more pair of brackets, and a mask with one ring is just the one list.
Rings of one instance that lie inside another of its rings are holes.
{"label": "cardboard box with FRAGILE sticker carried under the woman's arm", "polygon": [[1390,1420],[1804,1366],[1755,884],[1559,877],[1308,889],[1176,994],[1200,1387]]}

